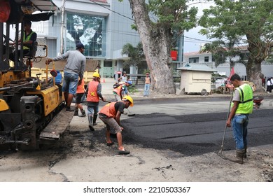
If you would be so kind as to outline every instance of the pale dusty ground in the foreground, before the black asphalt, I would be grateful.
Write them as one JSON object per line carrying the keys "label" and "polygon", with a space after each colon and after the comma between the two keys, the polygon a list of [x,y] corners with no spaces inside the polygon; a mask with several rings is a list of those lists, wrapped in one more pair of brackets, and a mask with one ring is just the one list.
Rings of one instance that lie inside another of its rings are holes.
{"label": "pale dusty ground in the foreground, before the black asphalt", "polygon": [[[40,151],[0,151],[0,182],[273,181],[273,146],[249,148],[244,165],[223,160],[213,152],[187,157],[128,141],[125,146],[131,154],[117,155],[115,138],[113,146],[105,145],[104,124],[99,122],[96,130],[90,132],[85,120],[80,125],[71,122],[59,144],[43,146]],[[234,155],[235,151],[223,154]]]}

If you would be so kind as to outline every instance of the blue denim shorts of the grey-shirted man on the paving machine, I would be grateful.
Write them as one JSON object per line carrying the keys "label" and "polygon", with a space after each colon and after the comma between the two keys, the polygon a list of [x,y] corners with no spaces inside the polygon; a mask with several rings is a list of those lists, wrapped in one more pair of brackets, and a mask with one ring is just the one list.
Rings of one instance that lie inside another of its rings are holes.
{"label": "blue denim shorts of the grey-shirted man on the paving machine", "polygon": [[76,94],[77,87],[78,87],[78,74],[64,72],[62,92],[68,92],[69,94]]}

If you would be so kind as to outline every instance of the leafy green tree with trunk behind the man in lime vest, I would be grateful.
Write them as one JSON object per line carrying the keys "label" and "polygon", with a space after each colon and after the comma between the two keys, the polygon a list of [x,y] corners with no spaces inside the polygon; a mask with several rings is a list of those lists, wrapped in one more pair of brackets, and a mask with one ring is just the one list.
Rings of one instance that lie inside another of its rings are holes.
{"label": "leafy green tree with trunk behind the man in lime vest", "polygon": [[273,39],[272,0],[214,0],[216,6],[203,10],[200,32],[208,38],[241,40],[248,46],[246,75],[261,89],[261,63],[269,57]]}

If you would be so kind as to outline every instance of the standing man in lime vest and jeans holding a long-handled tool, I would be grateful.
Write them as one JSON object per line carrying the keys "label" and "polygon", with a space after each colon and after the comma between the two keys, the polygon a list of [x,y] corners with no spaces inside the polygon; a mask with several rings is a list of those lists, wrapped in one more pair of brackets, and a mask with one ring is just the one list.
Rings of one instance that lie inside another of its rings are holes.
{"label": "standing man in lime vest and jeans holding a long-handled tool", "polygon": [[236,73],[231,76],[230,82],[236,88],[226,124],[228,127],[232,124],[236,142],[236,157],[228,158],[228,160],[243,164],[246,158],[248,115],[253,111],[253,91],[252,87],[241,81],[240,76]]}

